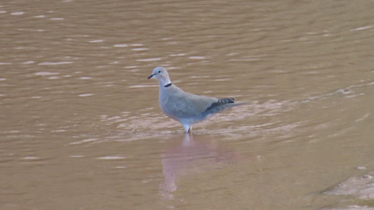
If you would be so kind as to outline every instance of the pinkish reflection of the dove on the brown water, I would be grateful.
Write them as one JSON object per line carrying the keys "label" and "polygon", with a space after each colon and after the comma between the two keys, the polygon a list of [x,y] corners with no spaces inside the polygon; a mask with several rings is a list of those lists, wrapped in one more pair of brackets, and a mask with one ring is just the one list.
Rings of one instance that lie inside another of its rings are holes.
{"label": "pinkish reflection of the dove on the brown water", "polygon": [[165,182],[160,184],[160,194],[165,199],[174,199],[172,192],[177,190],[177,177],[220,169],[223,166],[221,163],[234,163],[236,160],[237,155],[233,151],[224,151],[213,143],[194,141],[192,133],[186,133],[182,143],[170,146],[162,154]]}

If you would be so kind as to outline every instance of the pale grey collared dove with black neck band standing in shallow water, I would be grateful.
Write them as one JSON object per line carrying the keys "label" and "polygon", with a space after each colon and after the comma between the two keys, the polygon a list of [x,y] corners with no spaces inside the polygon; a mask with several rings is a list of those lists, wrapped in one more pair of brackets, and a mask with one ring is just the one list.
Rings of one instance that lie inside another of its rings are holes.
{"label": "pale grey collared dove with black neck band standing in shallow water", "polygon": [[154,68],[148,80],[150,78],[156,78],[159,81],[161,111],[166,116],[180,122],[184,133],[190,133],[192,125],[195,123],[207,120],[227,108],[245,104],[234,104],[234,98],[218,99],[184,92],[171,82],[168,71],[164,67]]}

